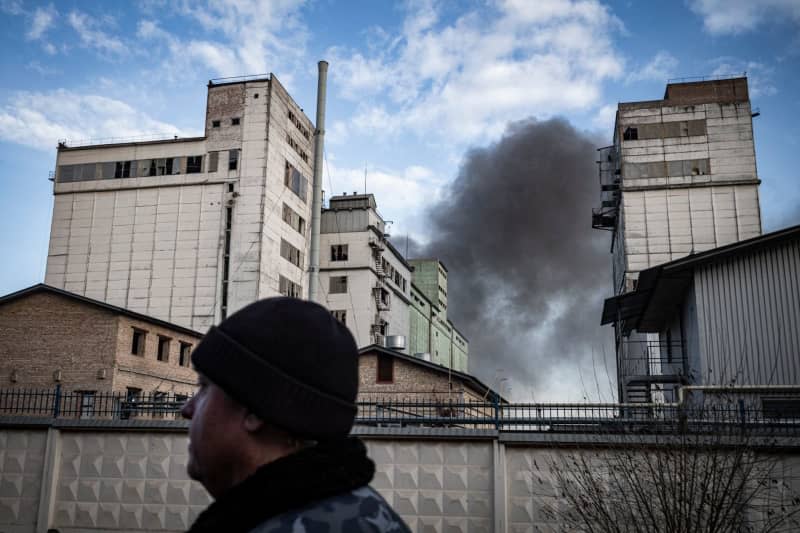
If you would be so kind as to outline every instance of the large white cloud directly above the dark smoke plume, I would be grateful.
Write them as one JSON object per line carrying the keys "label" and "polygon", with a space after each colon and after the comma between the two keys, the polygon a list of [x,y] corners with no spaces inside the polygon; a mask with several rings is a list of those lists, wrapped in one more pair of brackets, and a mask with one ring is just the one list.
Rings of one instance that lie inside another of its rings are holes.
{"label": "large white cloud directly above the dark smoke plume", "polygon": [[342,96],[358,102],[354,129],[470,142],[499,135],[513,118],[594,105],[602,82],[622,74],[610,40],[618,27],[594,0],[507,0],[452,22],[417,2],[398,35],[378,32],[384,47],[328,55]]}

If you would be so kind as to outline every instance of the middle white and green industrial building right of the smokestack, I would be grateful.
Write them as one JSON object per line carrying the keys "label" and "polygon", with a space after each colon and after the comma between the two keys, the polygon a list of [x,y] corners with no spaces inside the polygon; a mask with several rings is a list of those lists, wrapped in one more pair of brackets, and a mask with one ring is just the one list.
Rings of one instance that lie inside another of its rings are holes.
{"label": "middle white and green industrial building right of the smokestack", "polygon": [[320,303],[359,346],[377,344],[466,372],[469,344],[447,319],[447,269],[406,260],[372,194],[333,196],[320,225]]}

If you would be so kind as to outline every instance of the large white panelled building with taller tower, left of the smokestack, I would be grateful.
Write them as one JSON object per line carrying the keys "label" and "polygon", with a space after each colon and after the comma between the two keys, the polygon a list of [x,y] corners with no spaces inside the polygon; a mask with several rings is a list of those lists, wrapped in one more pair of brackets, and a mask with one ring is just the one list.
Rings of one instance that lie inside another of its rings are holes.
{"label": "large white panelled building with taller tower, left of the smokestack", "polygon": [[61,142],[45,282],[202,331],[303,297],[313,132],[270,75],[210,81],[202,137]]}

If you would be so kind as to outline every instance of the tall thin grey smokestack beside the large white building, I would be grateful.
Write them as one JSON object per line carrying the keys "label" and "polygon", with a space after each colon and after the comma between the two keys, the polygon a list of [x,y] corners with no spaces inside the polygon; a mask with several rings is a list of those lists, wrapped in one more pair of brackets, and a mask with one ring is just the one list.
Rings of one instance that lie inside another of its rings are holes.
{"label": "tall thin grey smokestack beside the large white building", "polygon": [[308,299],[318,301],[319,292],[319,223],[322,217],[322,154],[325,147],[325,93],[328,85],[328,62],[318,63],[317,120],[314,131],[314,195],[311,203],[311,254],[308,264]]}

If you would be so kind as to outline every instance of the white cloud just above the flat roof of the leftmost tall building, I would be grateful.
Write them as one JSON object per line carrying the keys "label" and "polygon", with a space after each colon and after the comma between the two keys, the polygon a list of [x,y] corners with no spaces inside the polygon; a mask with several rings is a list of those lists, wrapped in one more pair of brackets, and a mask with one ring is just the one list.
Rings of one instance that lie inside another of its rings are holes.
{"label": "white cloud just above the flat roof of the leftmost tall building", "polygon": [[190,136],[120,100],[66,89],[20,92],[0,109],[0,139],[40,150],[59,139],[130,138],[141,135]]}

